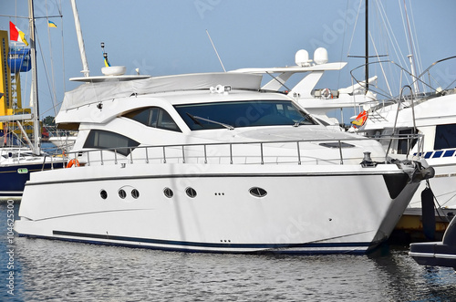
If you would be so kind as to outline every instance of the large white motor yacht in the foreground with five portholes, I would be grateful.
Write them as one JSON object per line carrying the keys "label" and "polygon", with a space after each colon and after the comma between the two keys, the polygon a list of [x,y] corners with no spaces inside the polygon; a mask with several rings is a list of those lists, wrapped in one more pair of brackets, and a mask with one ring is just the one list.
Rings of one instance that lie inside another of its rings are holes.
{"label": "large white motor yacht in the foreground with five portholes", "polygon": [[[217,253],[366,253],[432,176],[330,130],[262,76],[84,77],[59,128],[70,169],[36,172],[23,236]],[[45,194],[52,192],[52,194]]]}

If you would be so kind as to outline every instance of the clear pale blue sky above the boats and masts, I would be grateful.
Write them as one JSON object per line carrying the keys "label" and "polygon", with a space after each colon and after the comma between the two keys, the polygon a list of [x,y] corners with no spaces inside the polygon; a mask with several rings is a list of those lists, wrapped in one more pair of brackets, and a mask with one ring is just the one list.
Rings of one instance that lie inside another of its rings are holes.
{"label": "clear pale blue sky above the boats and masts", "polygon": [[[455,1],[382,1],[403,51],[401,59],[409,54],[400,16],[404,2],[414,24],[422,67],[456,55]],[[290,66],[295,64],[297,50],[304,48],[313,57],[316,47],[326,47],[330,62],[347,61],[348,65],[340,72],[327,73],[318,87],[337,89],[350,85],[349,71],[363,63],[361,58],[347,57],[364,55],[364,6],[356,23],[358,0],[77,0],[77,5],[92,76],[100,75],[103,67],[100,42],[106,45],[111,65],[126,66],[129,74],[135,68],[152,76],[223,71],[206,29],[227,70]],[[369,27],[378,52],[399,62],[384,35],[377,2],[370,1],[369,8]],[[82,66],[69,1],[36,0],[35,13],[36,17],[63,15],[49,18],[57,28],[48,29],[46,19],[36,21],[40,114],[44,117],[54,115],[49,87],[56,86],[58,104],[65,90],[79,85],[68,78],[81,76]],[[0,15],[0,29],[8,30],[12,21],[28,36],[26,19],[4,16],[27,16],[26,0],[2,1]],[[371,49],[370,55],[375,54]],[[377,72],[372,69],[371,75]],[[30,86],[24,83],[29,83],[30,76],[22,78],[23,89],[28,91]]]}

